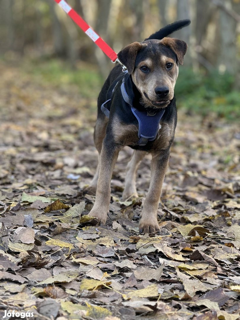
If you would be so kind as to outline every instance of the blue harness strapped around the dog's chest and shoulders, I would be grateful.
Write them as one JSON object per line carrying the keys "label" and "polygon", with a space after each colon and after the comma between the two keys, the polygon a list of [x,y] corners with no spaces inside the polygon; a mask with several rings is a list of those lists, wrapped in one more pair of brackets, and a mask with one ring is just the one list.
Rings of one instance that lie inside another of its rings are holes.
{"label": "blue harness strapped around the dog's chest and shoulders", "polygon": [[[126,92],[124,82],[125,82],[125,77],[123,78],[123,81],[121,84],[121,92],[122,92],[123,99],[131,107],[132,113],[138,120],[139,141],[137,142],[137,144],[139,146],[145,146],[148,143],[148,141],[153,141],[156,139],[156,135],[159,130],[159,123],[164,115],[165,109],[140,111],[137,108],[134,108],[132,106],[132,100],[129,98],[129,95]],[[117,84],[118,82],[116,83],[116,85]],[[114,92],[116,85],[113,88],[112,92]],[[108,99],[101,105],[102,112],[108,118],[109,118],[110,111],[108,110],[108,108],[105,107],[105,105],[110,101],[111,99]]]}

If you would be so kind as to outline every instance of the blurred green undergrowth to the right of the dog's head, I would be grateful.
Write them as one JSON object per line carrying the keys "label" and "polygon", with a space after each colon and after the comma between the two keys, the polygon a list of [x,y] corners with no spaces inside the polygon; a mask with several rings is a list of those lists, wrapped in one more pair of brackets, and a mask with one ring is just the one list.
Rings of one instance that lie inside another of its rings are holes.
{"label": "blurred green undergrowth to the right of the dog's head", "polygon": [[228,120],[239,119],[240,92],[232,90],[234,78],[220,75],[217,70],[208,75],[180,70],[175,86],[177,107],[207,116],[216,113]]}

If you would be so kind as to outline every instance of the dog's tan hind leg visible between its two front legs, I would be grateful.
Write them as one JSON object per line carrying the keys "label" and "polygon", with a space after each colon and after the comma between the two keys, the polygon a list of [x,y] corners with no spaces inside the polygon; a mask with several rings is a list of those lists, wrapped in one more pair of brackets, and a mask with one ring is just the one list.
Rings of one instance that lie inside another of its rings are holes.
{"label": "dog's tan hind leg visible between its two front legs", "polygon": [[134,150],[132,159],[129,161],[126,170],[125,188],[123,191],[123,199],[126,200],[130,197],[137,197],[136,189],[136,173],[140,161],[146,155],[146,151]]}

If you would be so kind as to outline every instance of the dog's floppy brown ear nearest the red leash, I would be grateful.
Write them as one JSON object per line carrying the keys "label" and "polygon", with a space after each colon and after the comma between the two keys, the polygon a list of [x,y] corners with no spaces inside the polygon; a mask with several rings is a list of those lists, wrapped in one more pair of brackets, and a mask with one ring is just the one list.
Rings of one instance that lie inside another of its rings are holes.
{"label": "dog's floppy brown ear nearest the red leash", "polygon": [[132,71],[135,67],[135,61],[138,52],[143,48],[146,47],[147,44],[143,44],[140,42],[133,42],[127,45],[123,50],[118,52],[117,57],[118,59],[127,67],[128,73],[131,75]]}

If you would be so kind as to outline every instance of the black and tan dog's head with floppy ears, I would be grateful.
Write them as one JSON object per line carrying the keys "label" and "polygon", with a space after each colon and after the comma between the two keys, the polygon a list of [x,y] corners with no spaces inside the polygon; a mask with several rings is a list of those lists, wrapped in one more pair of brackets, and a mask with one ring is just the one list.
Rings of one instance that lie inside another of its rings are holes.
{"label": "black and tan dog's head with floppy ears", "polygon": [[173,99],[178,64],[183,64],[187,49],[184,41],[163,38],[134,42],[118,53],[145,107],[165,108]]}

